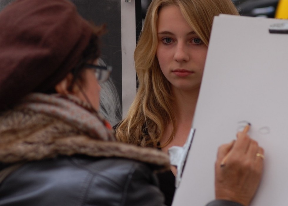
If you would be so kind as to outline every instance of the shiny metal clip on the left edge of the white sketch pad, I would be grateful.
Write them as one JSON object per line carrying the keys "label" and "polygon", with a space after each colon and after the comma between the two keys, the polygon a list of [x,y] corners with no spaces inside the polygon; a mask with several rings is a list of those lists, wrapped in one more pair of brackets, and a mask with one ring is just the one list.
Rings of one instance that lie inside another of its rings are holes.
{"label": "shiny metal clip on the left edge of the white sketch pad", "polygon": [[178,188],[182,173],[185,167],[185,163],[187,160],[187,156],[191,147],[192,139],[195,133],[195,129],[191,128],[188,138],[184,144],[184,146],[173,146],[168,150],[170,156],[170,164],[177,167],[177,175],[175,178],[175,187]]}

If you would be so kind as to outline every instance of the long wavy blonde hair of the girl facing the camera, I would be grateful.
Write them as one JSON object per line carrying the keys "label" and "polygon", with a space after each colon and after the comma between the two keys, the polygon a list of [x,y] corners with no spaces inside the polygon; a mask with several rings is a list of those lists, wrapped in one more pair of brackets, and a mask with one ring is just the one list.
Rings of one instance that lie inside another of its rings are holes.
{"label": "long wavy blonde hair of the girl facing the camera", "polygon": [[168,5],[178,6],[187,23],[207,46],[214,16],[220,13],[238,15],[231,0],[153,0],[151,2],[134,52],[139,87],[126,118],[116,128],[116,137],[126,143],[157,147],[170,122],[173,125],[172,133],[165,145],[172,141],[175,134],[174,98],[170,83],[161,72],[155,56],[158,45],[158,13],[161,8]]}

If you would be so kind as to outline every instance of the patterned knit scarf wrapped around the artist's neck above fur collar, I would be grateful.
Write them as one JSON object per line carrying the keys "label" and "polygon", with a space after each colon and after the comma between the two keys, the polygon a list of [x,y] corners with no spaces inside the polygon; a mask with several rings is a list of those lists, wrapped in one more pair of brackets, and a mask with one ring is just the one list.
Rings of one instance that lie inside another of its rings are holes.
{"label": "patterned knit scarf wrapped around the artist's neck above fur collar", "polygon": [[19,108],[59,118],[96,139],[115,141],[112,132],[107,129],[111,126],[103,116],[73,95],[34,93],[26,96]]}

